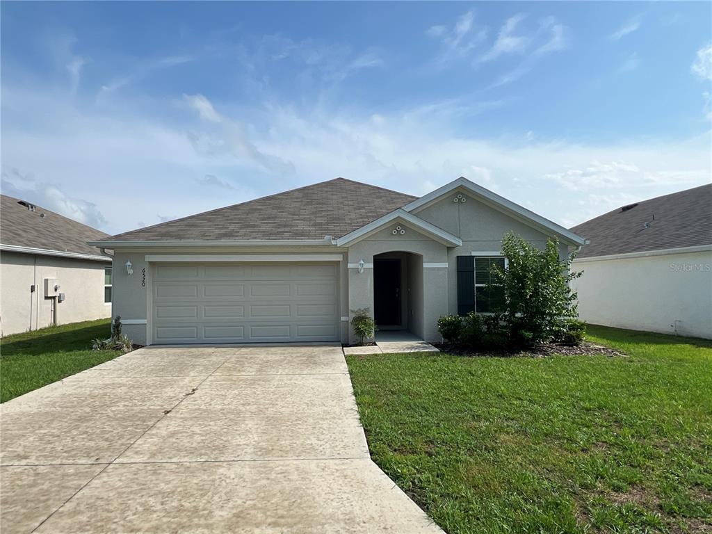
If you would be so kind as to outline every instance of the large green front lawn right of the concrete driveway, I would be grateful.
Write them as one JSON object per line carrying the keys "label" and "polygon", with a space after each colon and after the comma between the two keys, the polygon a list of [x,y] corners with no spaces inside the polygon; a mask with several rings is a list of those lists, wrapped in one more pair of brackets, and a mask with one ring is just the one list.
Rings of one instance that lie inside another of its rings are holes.
{"label": "large green front lawn right of the concrete driveway", "polygon": [[376,463],[450,534],[712,532],[712,342],[347,357]]}

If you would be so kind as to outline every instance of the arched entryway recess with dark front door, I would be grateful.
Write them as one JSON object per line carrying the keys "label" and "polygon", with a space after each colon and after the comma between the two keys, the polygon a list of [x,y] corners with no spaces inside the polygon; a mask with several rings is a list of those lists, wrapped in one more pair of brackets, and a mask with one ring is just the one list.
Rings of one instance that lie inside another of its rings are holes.
{"label": "arched entryway recess with dark front door", "polygon": [[422,339],[423,256],[405,251],[373,256],[373,304],[377,338],[410,333]]}

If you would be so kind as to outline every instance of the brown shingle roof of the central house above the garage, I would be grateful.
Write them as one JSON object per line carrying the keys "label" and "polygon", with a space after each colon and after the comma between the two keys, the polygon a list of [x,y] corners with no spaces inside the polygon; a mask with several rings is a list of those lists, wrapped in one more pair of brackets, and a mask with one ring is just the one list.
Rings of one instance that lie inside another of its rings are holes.
{"label": "brown shingle roof of the central house above the garage", "polygon": [[324,239],[348,234],[417,197],[336,178],[112,236],[115,241]]}

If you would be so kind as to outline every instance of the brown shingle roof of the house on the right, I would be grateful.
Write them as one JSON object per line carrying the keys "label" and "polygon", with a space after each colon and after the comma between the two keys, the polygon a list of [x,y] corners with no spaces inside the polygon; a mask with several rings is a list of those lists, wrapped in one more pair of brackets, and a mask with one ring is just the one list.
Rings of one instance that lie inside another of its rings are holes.
{"label": "brown shingle roof of the house on the right", "polygon": [[712,244],[712,184],[622,206],[574,226],[579,258]]}

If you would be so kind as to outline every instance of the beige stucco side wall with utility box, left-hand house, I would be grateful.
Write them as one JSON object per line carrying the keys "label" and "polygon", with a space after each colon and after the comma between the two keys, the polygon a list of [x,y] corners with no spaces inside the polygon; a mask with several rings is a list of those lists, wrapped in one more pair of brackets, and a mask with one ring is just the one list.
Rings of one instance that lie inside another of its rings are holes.
{"label": "beige stucco side wall with utility box, left-hand house", "polygon": [[[44,279],[56,278],[65,300],[57,305],[57,323],[108,318],[104,303],[104,268],[108,262],[35,254],[0,253],[0,330],[2,335],[37,330],[52,324],[52,300]],[[30,286],[36,284],[36,291]]]}

